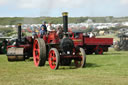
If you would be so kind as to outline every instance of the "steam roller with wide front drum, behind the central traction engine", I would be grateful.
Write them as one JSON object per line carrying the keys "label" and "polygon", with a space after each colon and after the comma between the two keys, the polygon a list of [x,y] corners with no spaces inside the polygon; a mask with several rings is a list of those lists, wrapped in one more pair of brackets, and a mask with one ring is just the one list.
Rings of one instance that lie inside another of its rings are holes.
{"label": "steam roller with wide front drum, behind the central traction engine", "polygon": [[21,37],[21,24],[18,24],[18,37],[13,45],[7,46],[8,61],[24,61],[32,57],[33,39],[32,37]]}

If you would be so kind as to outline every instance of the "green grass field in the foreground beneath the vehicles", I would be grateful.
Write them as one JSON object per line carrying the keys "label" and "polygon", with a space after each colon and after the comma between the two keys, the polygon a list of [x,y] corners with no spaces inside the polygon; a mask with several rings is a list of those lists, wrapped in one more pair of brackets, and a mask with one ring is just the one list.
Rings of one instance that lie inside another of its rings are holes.
{"label": "green grass field in the foreground beneath the vehicles", "polygon": [[66,66],[51,70],[48,63],[8,62],[0,55],[0,85],[128,85],[128,52],[110,49],[104,55],[87,55],[86,68]]}

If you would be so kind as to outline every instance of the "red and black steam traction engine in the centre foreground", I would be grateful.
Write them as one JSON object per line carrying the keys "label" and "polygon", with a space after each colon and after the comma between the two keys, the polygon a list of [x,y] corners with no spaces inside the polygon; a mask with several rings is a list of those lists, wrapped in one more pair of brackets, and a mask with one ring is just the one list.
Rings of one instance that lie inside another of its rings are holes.
{"label": "red and black steam traction engine in the centre foreground", "polygon": [[68,16],[63,13],[64,36],[61,39],[56,31],[43,35],[34,40],[33,59],[35,66],[44,66],[46,60],[51,69],[58,69],[59,65],[70,65],[72,60],[76,67],[84,67],[86,55],[83,48],[76,49],[68,34]]}

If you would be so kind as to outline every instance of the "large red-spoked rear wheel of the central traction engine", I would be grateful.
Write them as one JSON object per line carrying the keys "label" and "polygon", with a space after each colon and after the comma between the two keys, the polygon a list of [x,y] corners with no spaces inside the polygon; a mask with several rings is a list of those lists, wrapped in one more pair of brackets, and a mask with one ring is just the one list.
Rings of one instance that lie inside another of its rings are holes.
{"label": "large red-spoked rear wheel of the central traction engine", "polygon": [[36,39],[33,44],[35,66],[44,66],[46,61],[46,45],[43,39]]}

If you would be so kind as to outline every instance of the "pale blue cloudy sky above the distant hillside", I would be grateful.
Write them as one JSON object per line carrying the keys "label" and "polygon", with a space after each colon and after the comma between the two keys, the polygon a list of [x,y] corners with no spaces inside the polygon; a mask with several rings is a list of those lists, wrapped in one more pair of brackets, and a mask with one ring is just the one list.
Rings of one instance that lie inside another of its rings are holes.
{"label": "pale blue cloudy sky above the distant hillside", "polygon": [[128,0],[0,0],[0,17],[128,16]]}

